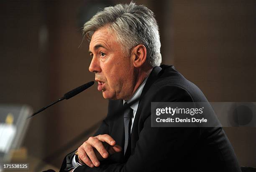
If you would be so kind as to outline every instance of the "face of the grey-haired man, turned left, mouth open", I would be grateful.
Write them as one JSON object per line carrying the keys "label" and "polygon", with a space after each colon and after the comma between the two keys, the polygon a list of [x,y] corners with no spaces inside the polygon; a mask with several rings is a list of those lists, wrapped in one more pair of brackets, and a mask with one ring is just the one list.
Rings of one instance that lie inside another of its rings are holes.
{"label": "face of the grey-haired man, turned left, mouth open", "polygon": [[90,72],[95,72],[98,90],[105,99],[131,98],[135,85],[134,66],[131,57],[124,55],[121,45],[107,27],[94,32],[90,42],[89,54],[92,56]]}

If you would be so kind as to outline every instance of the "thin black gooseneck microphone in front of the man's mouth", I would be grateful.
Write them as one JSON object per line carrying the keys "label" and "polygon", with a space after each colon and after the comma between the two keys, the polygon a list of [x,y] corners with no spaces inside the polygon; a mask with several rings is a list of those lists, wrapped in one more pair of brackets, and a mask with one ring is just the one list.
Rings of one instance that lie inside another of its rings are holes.
{"label": "thin black gooseneck microphone in front of the man's mouth", "polygon": [[[28,118],[33,117],[34,115],[38,114],[39,112],[42,112],[42,111],[45,110],[46,108],[48,108],[48,107],[54,105],[54,104],[57,103],[57,102],[60,102],[61,100],[64,100],[64,99],[68,100],[68,99],[70,99],[71,97],[74,97],[75,95],[79,94],[80,92],[82,92],[82,91],[86,90],[87,88],[91,87],[93,84],[94,84],[94,81],[91,81],[91,82],[88,82],[88,83],[86,83],[86,84],[84,84],[84,85],[81,85],[81,86],[75,88],[74,90],[71,90],[71,91],[67,92],[66,94],[64,94],[64,97],[61,97],[61,98],[60,98],[59,100],[57,100],[56,102],[53,102],[53,103],[51,103],[50,105],[48,105],[48,106],[46,106],[46,107],[43,107],[42,109],[40,109],[40,110],[38,110],[37,112],[33,113],[33,114],[32,114],[30,117],[28,117]],[[27,119],[28,119],[28,118],[27,118]]]}

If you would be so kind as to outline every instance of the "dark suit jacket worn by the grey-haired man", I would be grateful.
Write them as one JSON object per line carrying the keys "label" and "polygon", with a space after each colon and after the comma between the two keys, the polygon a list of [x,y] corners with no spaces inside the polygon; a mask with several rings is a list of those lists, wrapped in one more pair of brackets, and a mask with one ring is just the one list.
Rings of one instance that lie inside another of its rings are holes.
{"label": "dark suit jacket worn by the grey-haired man", "polygon": [[[128,153],[116,153],[100,167],[77,167],[75,172],[121,171],[241,171],[222,127],[151,127],[151,102],[207,102],[201,90],[173,66],[155,67],[141,93]],[[110,100],[108,117],[123,106]],[[108,117],[95,135],[108,134],[124,146],[123,115]],[[70,167],[74,152],[65,157],[61,171]]]}

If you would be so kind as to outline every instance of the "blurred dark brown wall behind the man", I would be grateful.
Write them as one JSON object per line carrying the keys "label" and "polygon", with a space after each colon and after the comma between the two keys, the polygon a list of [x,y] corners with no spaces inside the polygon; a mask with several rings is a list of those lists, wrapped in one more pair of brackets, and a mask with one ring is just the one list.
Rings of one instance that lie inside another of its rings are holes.
{"label": "blurred dark brown wall behind the man", "polygon": [[[38,110],[94,80],[83,23],[128,0],[1,0],[0,104]],[[211,102],[256,102],[255,0],[136,0],[156,15],[163,64],[174,65]],[[82,43],[81,43],[82,42]],[[80,46],[81,45],[81,46]],[[59,168],[107,114],[97,86],[41,112],[22,147]],[[56,153],[78,135],[80,140]],[[224,128],[242,166],[256,167],[256,127]]]}

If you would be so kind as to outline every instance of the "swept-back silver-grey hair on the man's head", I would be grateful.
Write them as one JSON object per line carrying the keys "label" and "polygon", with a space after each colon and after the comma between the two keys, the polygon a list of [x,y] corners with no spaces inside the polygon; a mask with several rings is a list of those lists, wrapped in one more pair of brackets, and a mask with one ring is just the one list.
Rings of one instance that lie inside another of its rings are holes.
{"label": "swept-back silver-grey hair on the man's head", "polygon": [[104,26],[116,36],[124,53],[143,44],[147,50],[146,61],[152,67],[161,64],[159,28],[154,13],[147,7],[133,2],[105,7],[84,24],[83,35],[90,42],[93,33]]}

